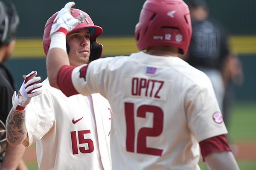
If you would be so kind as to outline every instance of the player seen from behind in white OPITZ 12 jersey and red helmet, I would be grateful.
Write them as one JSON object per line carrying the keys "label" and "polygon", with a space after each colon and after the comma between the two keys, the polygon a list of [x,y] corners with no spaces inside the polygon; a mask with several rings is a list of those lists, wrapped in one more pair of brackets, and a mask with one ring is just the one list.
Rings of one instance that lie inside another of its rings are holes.
{"label": "player seen from behind in white OPITZ 12 jersey and red helmet", "polygon": [[135,27],[139,50],[130,56],[70,66],[65,33],[85,16],[61,9],[52,25],[47,74],[67,96],[99,92],[113,109],[113,170],[199,170],[200,149],[211,170],[238,170],[211,82],[178,54],[192,35],[182,0],[146,0]]}

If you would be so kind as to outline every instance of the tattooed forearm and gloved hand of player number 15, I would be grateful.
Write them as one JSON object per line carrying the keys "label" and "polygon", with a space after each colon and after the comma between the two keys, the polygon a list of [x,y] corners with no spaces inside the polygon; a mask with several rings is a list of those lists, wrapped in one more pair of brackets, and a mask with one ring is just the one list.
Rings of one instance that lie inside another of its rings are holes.
{"label": "tattooed forearm and gloved hand of player number 15", "polygon": [[42,94],[42,91],[35,91],[42,87],[41,77],[35,77],[36,71],[28,74],[20,87],[20,91],[16,95],[16,91],[12,96],[12,110],[6,120],[6,140],[10,145],[21,144],[27,138],[26,131],[26,105],[29,104],[33,96]]}

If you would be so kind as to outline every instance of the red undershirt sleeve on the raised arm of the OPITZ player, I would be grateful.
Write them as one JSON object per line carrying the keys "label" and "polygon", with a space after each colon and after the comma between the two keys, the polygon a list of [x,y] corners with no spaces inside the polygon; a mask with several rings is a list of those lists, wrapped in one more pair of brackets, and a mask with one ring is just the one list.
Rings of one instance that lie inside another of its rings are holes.
{"label": "red undershirt sleeve on the raised arm of the OPITZ player", "polygon": [[76,66],[63,65],[58,71],[57,84],[67,97],[79,94],[72,83],[72,71],[74,68]]}

